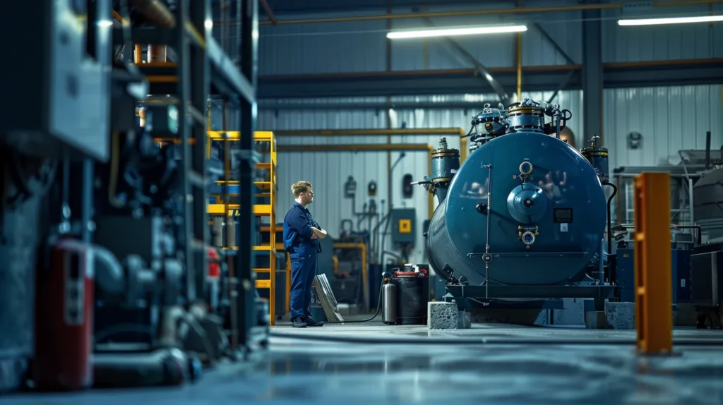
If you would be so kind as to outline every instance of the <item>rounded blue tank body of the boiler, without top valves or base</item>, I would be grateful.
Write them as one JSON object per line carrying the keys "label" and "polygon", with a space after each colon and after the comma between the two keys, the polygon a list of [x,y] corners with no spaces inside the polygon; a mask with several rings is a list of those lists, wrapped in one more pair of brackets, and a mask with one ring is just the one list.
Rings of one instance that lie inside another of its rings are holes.
{"label": "rounded blue tank body of the boiler, without top valves or base", "polygon": [[463,162],[437,206],[429,261],[473,285],[487,275],[507,285],[565,282],[598,251],[606,204],[596,170],[565,141],[498,136]]}

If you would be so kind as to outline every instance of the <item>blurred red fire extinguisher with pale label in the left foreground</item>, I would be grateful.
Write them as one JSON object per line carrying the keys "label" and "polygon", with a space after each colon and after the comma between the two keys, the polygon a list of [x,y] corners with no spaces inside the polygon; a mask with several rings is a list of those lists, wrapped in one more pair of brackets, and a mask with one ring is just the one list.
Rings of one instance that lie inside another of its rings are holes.
{"label": "blurred red fire extinguisher with pale label in the left foreground", "polygon": [[62,239],[38,266],[33,380],[40,390],[93,386],[93,249]]}

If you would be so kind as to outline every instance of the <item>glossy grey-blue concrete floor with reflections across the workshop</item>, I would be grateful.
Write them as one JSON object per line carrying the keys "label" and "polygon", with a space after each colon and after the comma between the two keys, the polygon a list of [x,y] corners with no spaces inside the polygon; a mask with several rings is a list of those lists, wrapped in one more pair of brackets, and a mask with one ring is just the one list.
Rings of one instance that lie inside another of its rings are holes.
{"label": "glossy grey-blue concrete floor with reflections across the workshop", "polygon": [[[634,331],[474,325],[429,332],[376,323],[273,332],[269,351],[254,362],[218,367],[192,386],[0,404],[723,404],[723,331],[676,331],[690,346],[671,357],[636,356]],[[330,337],[368,341],[316,340]]]}

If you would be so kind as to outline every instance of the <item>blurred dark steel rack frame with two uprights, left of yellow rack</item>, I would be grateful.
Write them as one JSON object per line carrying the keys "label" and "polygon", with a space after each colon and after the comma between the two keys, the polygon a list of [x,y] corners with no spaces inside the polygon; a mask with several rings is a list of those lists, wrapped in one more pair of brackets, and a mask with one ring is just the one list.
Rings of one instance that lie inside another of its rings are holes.
{"label": "blurred dark steel rack frame with two uprights, left of yellow rack", "polygon": [[[168,45],[177,54],[176,62],[153,62],[138,65],[150,84],[150,94],[175,95],[179,113],[176,141],[182,144],[181,188],[183,215],[180,224],[180,248],[187,264],[187,300],[205,297],[205,274],[208,258],[205,251],[210,244],[210,230],[206,206],[206,142],[207,122],[203,113],[209,98],[223,99],[237,108],[236,121],[241,133],[252,134],[256,129],[256,84],[258,6],[256,0],[238,0],[240,14],[236,24],[239,38],[239,61],[232,61],[213,38],[211,0],[177,0],[176,23],[173,27],[131,27],[134,44]],[[124,43],[121,29],[114,30],[114,43]],[[212,96],[213,95],[213,96]],[[171,141],[170,139],[166,139]],[[194,145],[194,147],[192,147]],[[254,256],[252,238],[252,175],[257,154],[250,136],[239,139],[236,145],[241,157],[239,167],[239,241],[234,274],[234,294],[231,295],[233,341],[239,348],[254,340],[252,328],[257,325],[255,295],[247,286],[252,282]]]}

